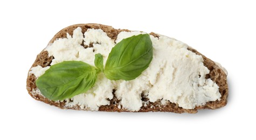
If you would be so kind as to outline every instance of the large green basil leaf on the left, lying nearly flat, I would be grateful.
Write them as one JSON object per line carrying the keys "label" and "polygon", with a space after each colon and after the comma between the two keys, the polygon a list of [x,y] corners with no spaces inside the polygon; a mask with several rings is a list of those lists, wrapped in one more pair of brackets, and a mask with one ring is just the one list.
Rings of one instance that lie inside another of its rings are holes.
{"label": "large green basil leaf on the left, lying nearly flat", "polygon": [[48,99],[64,100],[91,89],[97,75],[96,68],[85,62],[64,61],[47,69],[36,85]]}

